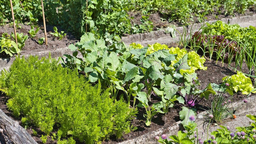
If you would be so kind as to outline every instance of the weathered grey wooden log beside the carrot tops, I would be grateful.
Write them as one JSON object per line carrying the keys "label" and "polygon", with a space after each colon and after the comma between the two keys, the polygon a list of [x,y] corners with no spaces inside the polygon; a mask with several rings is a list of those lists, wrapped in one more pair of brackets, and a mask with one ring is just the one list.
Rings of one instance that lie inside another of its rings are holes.
{"label": "weathered grey wooden log beside the carrot tops", "polygon": [[0,109],[0,139],[7,144],[37,144],[27,131]]}

